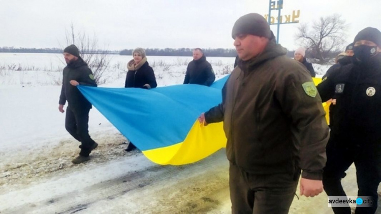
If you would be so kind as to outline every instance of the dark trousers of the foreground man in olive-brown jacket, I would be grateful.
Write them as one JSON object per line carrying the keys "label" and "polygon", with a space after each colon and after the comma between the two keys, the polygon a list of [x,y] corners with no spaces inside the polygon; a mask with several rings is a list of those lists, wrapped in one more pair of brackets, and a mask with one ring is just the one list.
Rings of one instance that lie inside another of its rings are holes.
{"label": "dark trousers of the foreground man in olive-brown jacket", "polygon": [[230,163],[232,213],[289,213],[300,171],[291,174],[251,174]]}

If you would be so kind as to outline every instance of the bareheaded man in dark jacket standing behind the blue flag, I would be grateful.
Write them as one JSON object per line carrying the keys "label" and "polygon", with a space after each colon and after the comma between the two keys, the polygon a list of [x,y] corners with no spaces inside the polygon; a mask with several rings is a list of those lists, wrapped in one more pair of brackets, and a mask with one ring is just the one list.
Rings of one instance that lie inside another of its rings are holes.
{"label": "bareheaded man in dark jacket standing behind the blue flag", "polygon": [[184,84],[199,84],[210,86],[215,80],[212,65],[200,48],[193,50],[193,61],[186,67]]}

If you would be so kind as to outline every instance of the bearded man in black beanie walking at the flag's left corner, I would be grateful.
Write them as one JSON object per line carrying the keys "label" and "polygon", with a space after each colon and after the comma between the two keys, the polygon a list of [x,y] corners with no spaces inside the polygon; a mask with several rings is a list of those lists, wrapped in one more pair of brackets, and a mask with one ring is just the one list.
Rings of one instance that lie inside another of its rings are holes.
{"label": "bearded man in black beanie walking at the flag's left corner", "polygon": [[97,86],[96,81],[86,62],[79,56],[75,45],[63,50],[67,66],[63,68],[61,95],[59,96],[59,112],[63,113],[63,105],[68,101],[66,108],[65,128],[78,141],[81,142],[79,156],[72,160],[74,164],[90,160],[91,150],[98,144],[88,134],[88,114],[91,103],[77,89],[78,85]]}

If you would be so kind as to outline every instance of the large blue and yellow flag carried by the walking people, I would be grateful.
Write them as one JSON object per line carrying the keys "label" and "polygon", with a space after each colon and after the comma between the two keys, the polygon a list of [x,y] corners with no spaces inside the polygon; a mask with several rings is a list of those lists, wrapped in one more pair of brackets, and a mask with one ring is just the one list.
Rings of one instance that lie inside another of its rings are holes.
{"label": "large blue and yellow flag carried by the walking people", "polygon": [[[221,100],[229,76],[202,85],[150,90],[78,86],[81,93],[152,162],[182,165],[226,147],[223,122],[202,126],[197,118]],[[315,84],[321,79],[314,79]]]}

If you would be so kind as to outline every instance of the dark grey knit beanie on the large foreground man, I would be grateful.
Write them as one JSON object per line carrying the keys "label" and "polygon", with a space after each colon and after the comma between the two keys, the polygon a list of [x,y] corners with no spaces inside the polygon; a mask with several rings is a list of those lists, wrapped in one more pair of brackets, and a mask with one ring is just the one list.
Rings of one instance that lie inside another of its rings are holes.
{"label": "dark grey knit beanie on the large foreground man", "polygon": [[251,34],[268,39],[272,37],[269,24],[266,19],[258,13],[243,15],[234,23],[232,30],[233,39],[235,39],[238,34]]}

